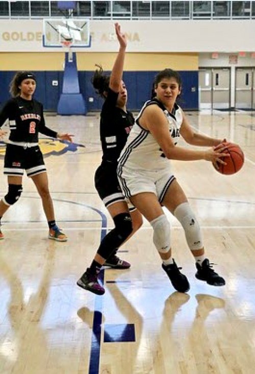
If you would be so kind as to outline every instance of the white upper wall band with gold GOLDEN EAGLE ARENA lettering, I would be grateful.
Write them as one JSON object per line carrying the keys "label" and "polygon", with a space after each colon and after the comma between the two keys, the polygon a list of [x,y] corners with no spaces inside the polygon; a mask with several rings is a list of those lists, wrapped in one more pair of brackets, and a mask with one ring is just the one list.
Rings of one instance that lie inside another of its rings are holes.
{"label": "white upper wall band with gold GOLDEN EAGLE ARENA lettering", "polygon": [[[255,51],[255,19],[123,20],[120,24],[127,36],[127,52]],[[90,35],[91,47],[79,52],[117,51],[114,21],[91,20]],[[55,47],[43,48],[42,36],[42,19],[1,19],[0,52],[59,52]]]}

